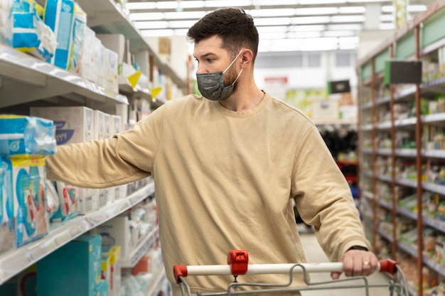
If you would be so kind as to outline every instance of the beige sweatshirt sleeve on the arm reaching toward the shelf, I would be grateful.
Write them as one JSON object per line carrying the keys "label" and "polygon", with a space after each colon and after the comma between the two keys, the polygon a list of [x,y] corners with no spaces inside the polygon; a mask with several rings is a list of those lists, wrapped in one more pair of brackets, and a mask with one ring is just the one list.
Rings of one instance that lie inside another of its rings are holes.
{"label": "beige sweatshirt sleeve on the arm reaching toward the shelf", "polygon": [[151,175],[162,136],[163,107],[132,130],[104,141],[58,146],[46,157],[48,180],[86,188],[126,184]]}

